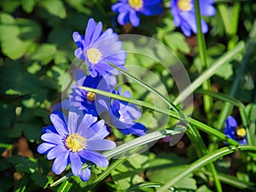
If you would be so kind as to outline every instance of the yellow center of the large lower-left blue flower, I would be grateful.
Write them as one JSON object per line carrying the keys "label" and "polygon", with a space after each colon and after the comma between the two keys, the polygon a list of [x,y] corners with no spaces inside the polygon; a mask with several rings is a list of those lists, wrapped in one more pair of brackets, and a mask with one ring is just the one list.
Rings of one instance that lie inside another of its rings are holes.
{"label": "yellow center of the large lower-left blue flower", "polygon": [[73,133],[66,138],[66,146],[72,152],[79,152],[86,148],[87,139],[80,136],[79,133]]}

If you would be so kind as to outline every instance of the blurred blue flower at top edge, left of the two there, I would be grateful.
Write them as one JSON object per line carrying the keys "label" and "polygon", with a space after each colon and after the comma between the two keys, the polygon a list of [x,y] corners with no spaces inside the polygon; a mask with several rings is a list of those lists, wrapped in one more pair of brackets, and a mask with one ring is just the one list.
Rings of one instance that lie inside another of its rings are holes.
{"label": "blurred blue flower at top edge, left of the two there", "polygon": [[160,15],[163,8],[160,6],[162,0],[119,0],[112,5],[111,9],[118,12],[118,22],[124,26],[131,21],[132,26],[139,26],[140,15]]}

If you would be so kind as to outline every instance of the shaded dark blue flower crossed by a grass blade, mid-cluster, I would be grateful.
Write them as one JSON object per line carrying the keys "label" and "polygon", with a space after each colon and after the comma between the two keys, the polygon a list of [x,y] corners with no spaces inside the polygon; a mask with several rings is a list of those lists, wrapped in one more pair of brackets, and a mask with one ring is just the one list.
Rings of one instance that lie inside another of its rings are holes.
{"label": "shaded dark blue flower crossed by a grass blade, mid-cluster", "polygon": [[[96,94],[94,92],[83,90],[80,86],[90,87],[98,90],[112,91],[116,84],[116,78],[110,74],[97,75],[95,78],[86,76],[82,70],[75,71],[76,84],[73,84],[72,93],[69,94],[69,106],[79,108],[84,113],[90,113],[93,116],[98,116],[96,109]],[[97,95],[98,98],[104,96]],[[105,97],[107,98],[107,97]]]}

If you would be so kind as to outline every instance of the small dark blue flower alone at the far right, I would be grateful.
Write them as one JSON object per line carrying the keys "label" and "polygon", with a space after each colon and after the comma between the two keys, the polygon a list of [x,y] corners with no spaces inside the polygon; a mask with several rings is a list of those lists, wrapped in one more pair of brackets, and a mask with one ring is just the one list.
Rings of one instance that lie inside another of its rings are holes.
{"label": "small dark blue flower alone at the far right", "polygon": [[246,130],[237,125],[236,119],[229,116],[225,122],[224,134],[235,139],[241,145],[247,145]]}

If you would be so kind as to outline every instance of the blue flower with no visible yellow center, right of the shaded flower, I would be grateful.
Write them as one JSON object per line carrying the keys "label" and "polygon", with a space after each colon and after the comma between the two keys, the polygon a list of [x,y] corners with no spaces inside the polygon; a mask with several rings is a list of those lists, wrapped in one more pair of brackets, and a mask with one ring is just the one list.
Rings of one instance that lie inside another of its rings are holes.
{"label": "blue flower with no visible yellow center, right of the shaded flower", "polygon": [[[113,93],[121,95],[120,87],[119,90],[113,90]],[[125,91],[122,96],[131,97],[131,93]],[[100,116],[106,121],[106,124],[116,127],[125,135],[143,136],[146,133],[145,125],[135,121],[142,116],[135,105],[116,99],[113,102],[111,102],[111,99],[108,101],[102,100],[100,104],[102,106]]]}

